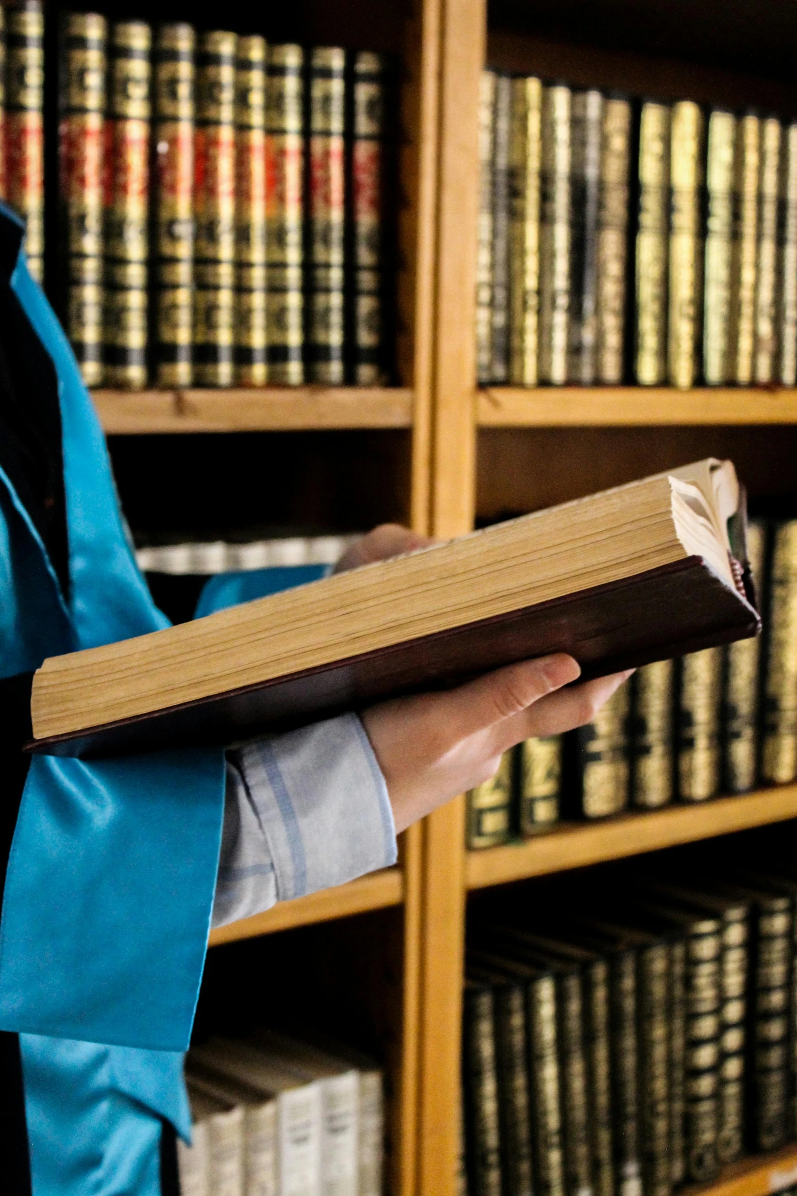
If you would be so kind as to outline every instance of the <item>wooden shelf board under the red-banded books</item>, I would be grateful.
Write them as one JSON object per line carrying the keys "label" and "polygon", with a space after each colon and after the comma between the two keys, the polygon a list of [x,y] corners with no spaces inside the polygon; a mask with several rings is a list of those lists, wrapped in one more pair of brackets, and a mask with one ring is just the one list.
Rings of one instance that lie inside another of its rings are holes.
{"label": "wooden shelf board under the red-banded books", "polygon": [[409,428],[412,391],[391,386],[96,390],[106,435]]}

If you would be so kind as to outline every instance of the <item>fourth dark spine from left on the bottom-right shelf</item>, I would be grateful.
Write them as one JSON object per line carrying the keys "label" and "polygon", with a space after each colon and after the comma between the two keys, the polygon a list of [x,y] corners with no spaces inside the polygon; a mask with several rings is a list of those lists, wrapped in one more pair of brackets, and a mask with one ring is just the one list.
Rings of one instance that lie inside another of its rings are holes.
{"label": "fourth dark spine from left on the bottom-right shelf", "polygon": [[591,1196],[593,1159],[584,1055],[584,1009],[580,972],[562,976],[557,986],[562,1128],[568,1196]]}

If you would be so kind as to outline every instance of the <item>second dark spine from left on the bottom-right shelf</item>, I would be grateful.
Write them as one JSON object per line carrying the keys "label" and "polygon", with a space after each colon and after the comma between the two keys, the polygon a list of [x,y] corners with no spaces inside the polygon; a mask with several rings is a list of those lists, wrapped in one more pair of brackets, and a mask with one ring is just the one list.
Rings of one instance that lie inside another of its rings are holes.
{"label": "second dark spine from left on the bottom-right shelf", "polygon": [[532,1196],[526,1000],[520,984],[501,986],[493,1000],[502,1190]]}

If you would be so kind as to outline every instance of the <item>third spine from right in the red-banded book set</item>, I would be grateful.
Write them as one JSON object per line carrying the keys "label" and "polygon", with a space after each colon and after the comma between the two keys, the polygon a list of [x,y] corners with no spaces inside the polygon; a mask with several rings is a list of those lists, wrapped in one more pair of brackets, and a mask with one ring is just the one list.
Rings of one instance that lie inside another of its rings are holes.
{"label": "third spine from right in the red-banded book set", "polygon": [[304,226],[304,50],[269,45],[265,78],[265,337],[271,385],[305,380]]}

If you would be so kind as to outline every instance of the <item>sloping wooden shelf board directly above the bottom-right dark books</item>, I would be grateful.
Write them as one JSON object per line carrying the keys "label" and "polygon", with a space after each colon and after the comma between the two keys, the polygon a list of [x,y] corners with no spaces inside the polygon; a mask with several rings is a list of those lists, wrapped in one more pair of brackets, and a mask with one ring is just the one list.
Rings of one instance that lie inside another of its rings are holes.
{"label": "sloping wooden shelf board directly above the bottom-right dark books", "polygon": [[467,852],[465,884],[467,889],[483,889],[795,817],[797,785],[784,785],[698,805],[673,805],[594,823],[565,823],[523,843]]}

